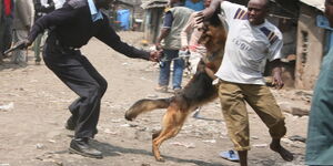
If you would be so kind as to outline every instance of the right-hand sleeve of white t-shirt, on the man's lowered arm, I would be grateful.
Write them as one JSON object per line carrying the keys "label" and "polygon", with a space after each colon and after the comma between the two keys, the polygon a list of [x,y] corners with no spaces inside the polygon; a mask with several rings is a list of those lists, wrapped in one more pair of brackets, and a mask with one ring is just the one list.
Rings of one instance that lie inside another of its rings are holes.
{"label": "right-hand sleeve of white t-shirt, on the man's lowered arm", "polygon": [[276,59],[282,59],[283,55],[281,53],[281,49],[283,46],[282,34],[280,31],[275,31],[274,38],[271,40],[271,46],[269,48],[269,61],[274,61]]}

